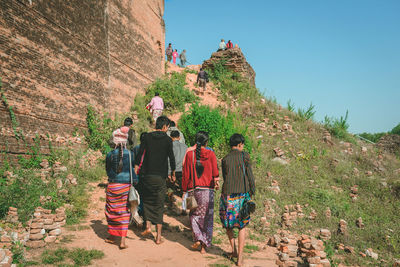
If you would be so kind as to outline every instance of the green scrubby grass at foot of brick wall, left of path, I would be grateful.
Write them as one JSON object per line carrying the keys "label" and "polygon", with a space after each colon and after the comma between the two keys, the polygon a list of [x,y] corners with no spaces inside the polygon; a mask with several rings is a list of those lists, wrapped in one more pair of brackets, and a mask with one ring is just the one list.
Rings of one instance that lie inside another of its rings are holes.
{"label": "green scrubby grass at foot of brick wall, left of path", "polygon": [[[88,183],[105,176],[101,161],[90,168],[81,166],[82,158],[87,153],[85,150],[55,151],[53,157],[67,167],[67,172],[62,172],[57,177],[50,172],[46,176],[47,182],[41,179],[40,170],[10,165],[8,171],[14,174],[13,178],[5,178],[3,173],[0,173],[0,218],[4,217],[8,208],[12,206],[18,208],[19,219],[25,223],[39,206],[54,211],[64,204],[69,204],[71,208],[66,210],[67,224],[79,223],[87,214]],[[56,180],[65,181],[68,174],[73,174],[78,184],[64,186],[68,193],[61,194],[57,189]],[[40,203],[40,196],[50,196],[51,200]]]}

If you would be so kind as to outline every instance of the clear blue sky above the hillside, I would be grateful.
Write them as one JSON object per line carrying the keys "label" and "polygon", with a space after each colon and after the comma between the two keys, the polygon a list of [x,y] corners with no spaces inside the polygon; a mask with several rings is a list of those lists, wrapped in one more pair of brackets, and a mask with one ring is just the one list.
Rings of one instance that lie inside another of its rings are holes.
{"label": "clear blue sky above the hillside", "polygon": [[349,110],[350,131],[400,123],[400,0],[167,0],[166,43],[201,64],[238,43],[261,92],[311,102],[315,120]]}

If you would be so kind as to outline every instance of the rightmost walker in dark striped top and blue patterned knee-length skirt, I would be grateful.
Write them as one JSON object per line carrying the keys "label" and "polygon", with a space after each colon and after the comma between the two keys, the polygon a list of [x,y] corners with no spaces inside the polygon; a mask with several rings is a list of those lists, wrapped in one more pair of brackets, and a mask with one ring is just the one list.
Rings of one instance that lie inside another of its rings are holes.
{"label": "rightmost walker in dark striped top and blue patterned knee-length skirt", "polygon": [[[241,218],[239,214],[243,204],[254,195],[255,183],[250,155],[243,151],[243,135],[233,134],[229,139],[229,144],[232,150],[222,159],[224,183],[222,185],[219,215],[232,247],[229,256],[237,257],[237,265],[241,266],[246,236],[245,227],[249,224],[250,216]],[[233,228],[239,228],[239,250],[236,249]]]}

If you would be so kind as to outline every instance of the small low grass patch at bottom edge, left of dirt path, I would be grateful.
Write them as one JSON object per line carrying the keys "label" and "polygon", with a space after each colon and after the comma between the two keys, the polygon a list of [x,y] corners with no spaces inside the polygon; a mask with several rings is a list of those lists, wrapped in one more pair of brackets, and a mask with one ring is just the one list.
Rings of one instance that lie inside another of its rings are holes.
{"label": "small low grass patch at bottom edge, left of dirt path", "polygon": [[[88,266],[92,263],[92,260],[103,257],[104,253],[96,249],[74,248],[69,250],[57,248],[55,250],[45,250],[41,255],[41,263],[57,266]],[[71,265],[68,262],[73,262],[74,264]]]}

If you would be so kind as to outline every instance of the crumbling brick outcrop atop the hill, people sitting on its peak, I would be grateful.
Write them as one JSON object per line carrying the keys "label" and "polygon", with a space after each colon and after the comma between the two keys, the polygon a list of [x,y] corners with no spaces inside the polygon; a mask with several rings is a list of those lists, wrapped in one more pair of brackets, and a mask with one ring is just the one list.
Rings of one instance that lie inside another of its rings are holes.
{"label": "crumbling brick outcrop atop the hill, people sitting on its peak", "polygon": [[256,72],[247,62],[240,48],[231,48],[228,50],[214,52],[212,53],[210,59],[207,59],[203,62],[202,67],[205,69],[212,69],[214,67],[214,63],[217,63],[221,60],[225,61],[225,67],[241,74],[241,76],[248,80],[253,86],[256,85]]}

